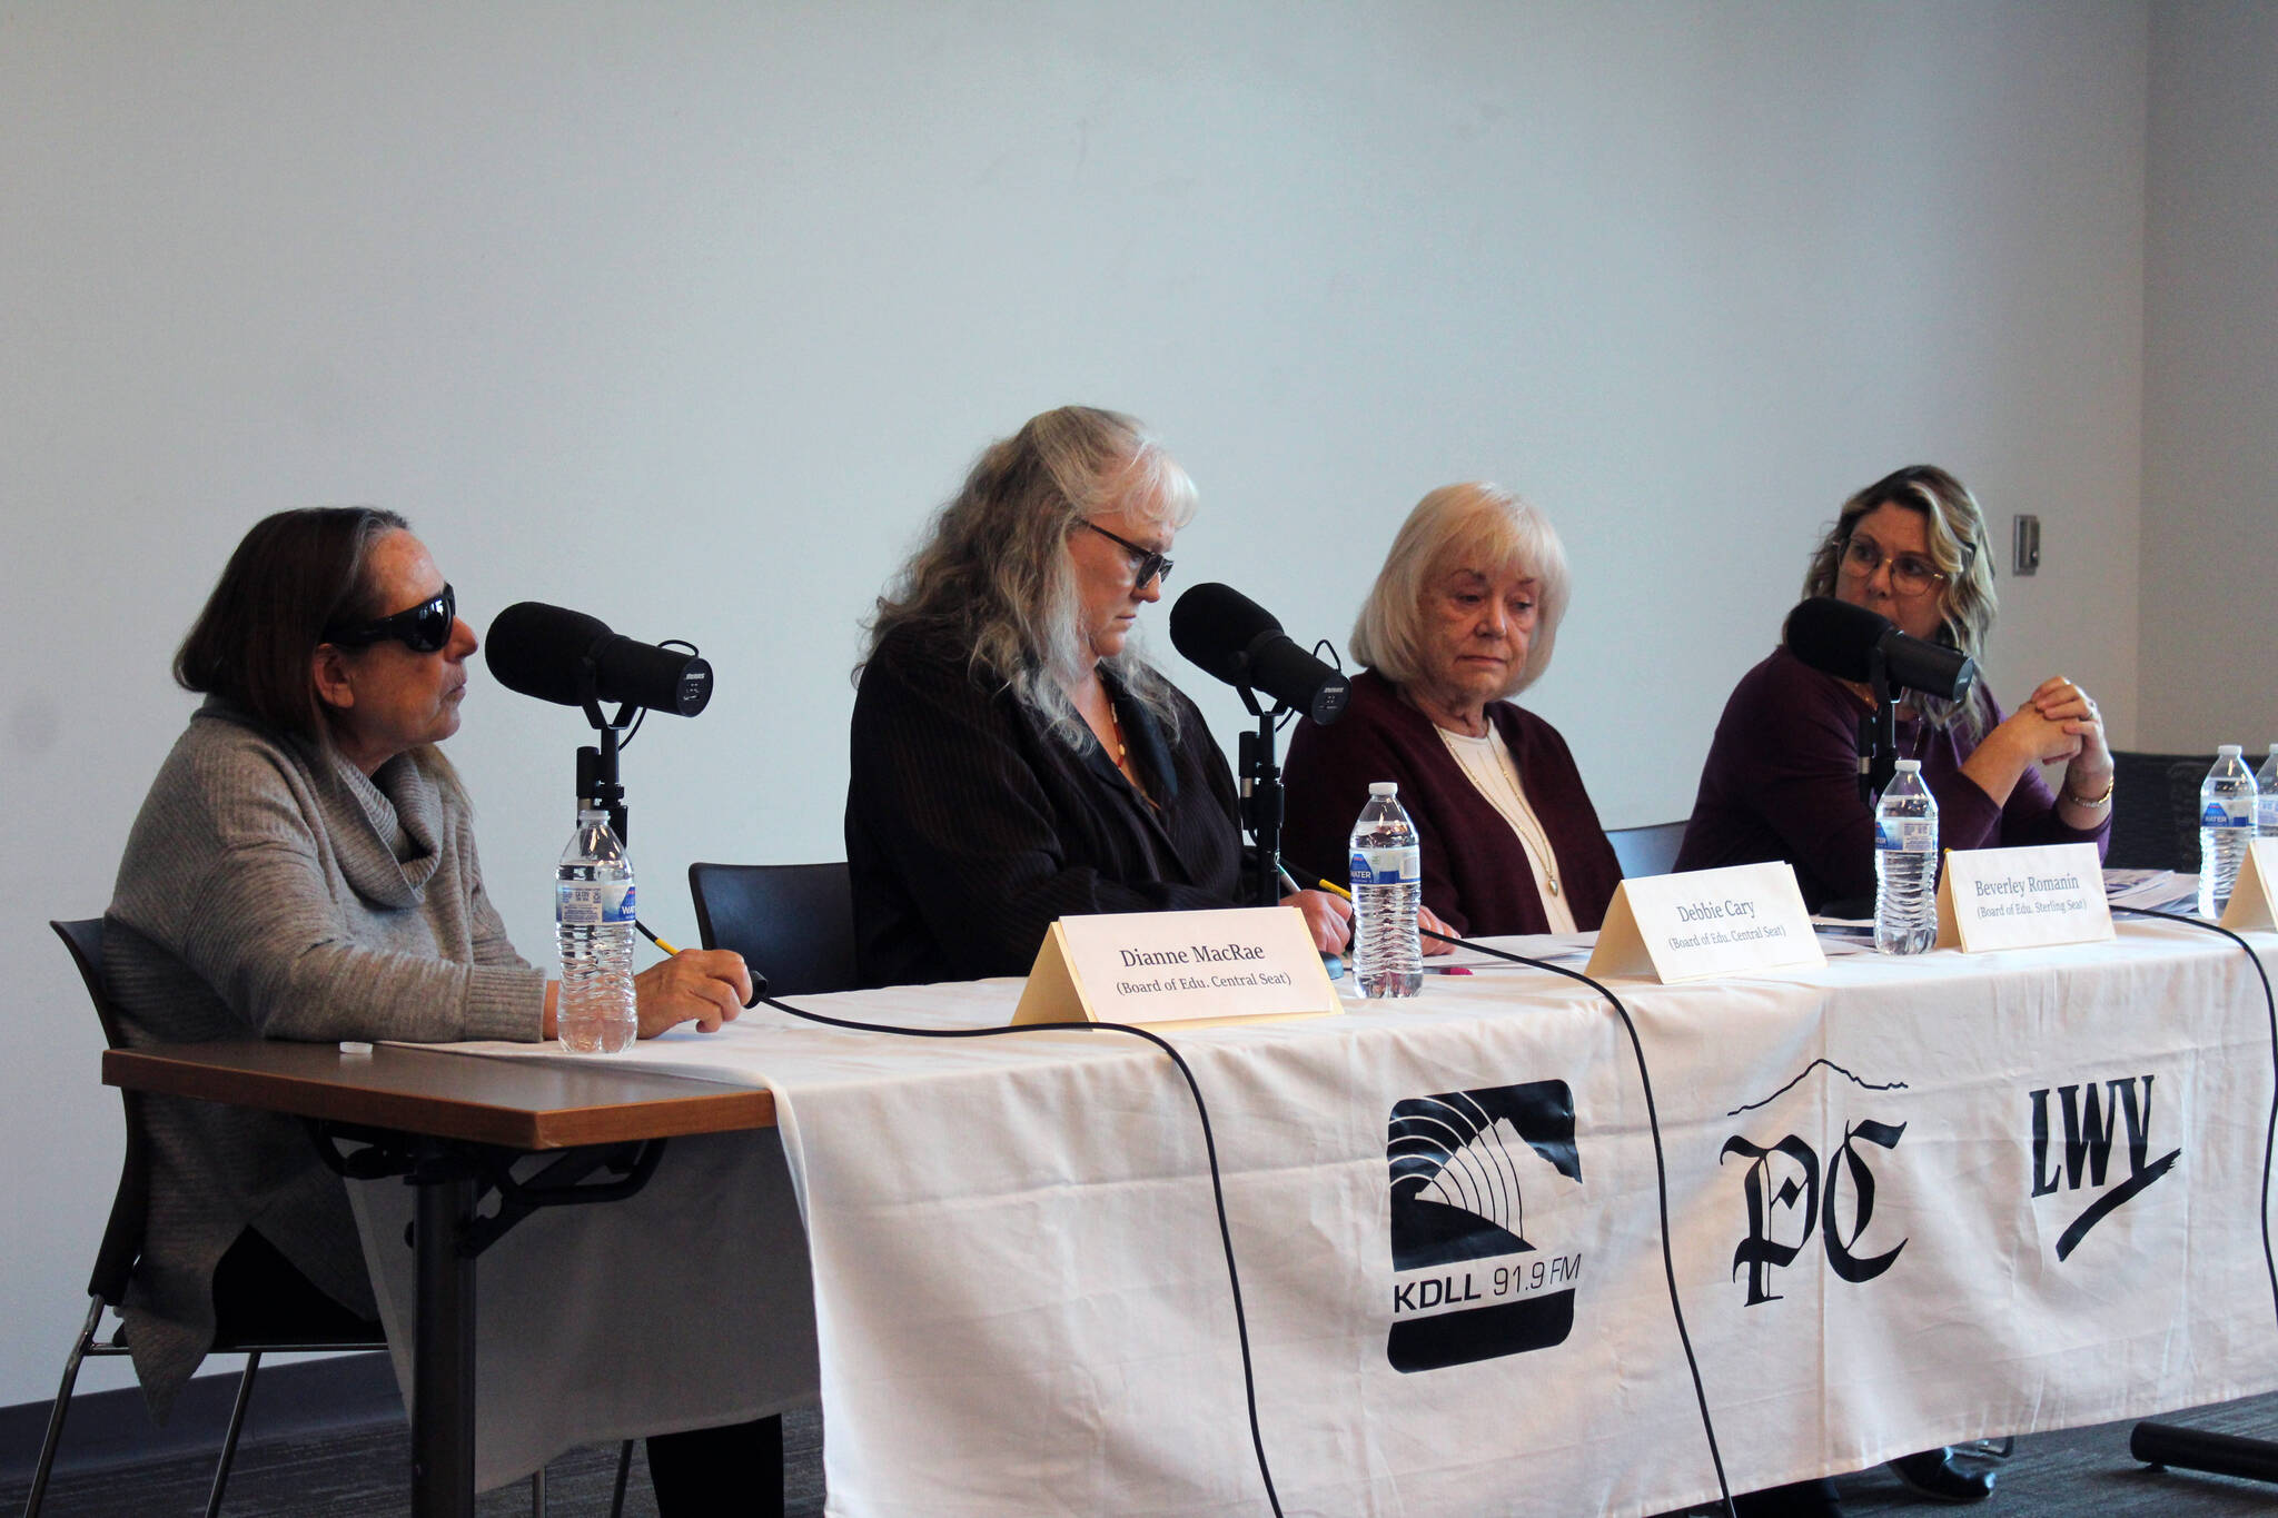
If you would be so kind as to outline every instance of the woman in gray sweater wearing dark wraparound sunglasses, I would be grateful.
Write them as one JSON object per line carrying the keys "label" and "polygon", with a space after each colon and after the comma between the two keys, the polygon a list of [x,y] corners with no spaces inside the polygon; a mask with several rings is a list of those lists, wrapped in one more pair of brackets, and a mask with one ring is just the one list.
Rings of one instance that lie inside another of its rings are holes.
{"label": "woman in gray sweater wearing dark wraparound sunglasses", "polygon": [[[458,731],[474,646],[394,512],[278,512],[246,533],[173,660],[205,703],[103,919],[130,1045],[554,1036],[558,988],[506,940],[435,746]],[[718,1029],[749,988],[736,954],[679,954],[636,979],[640,1031]],[[349,1197],[298,1120],[144,1097],[144,1129],[150,1215],[125,1320],[157,1416],[212,1345],[216,1302],[244,1320],[289,1300],[342,1336],[374,1315]],[[768,1438],[779,1429],[652,1441],[663,1511],[713,1511],[665,1486],[690,1459],[720,1466],[722,1441],[749,1470]],[[734,1511],[768,1511],[752,1486]]]}

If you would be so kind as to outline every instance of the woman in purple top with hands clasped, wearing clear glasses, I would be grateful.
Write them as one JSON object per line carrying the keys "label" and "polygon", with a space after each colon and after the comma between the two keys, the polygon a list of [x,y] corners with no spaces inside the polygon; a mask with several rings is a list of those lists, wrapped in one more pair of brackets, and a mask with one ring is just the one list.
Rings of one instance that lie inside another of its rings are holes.
{"label": "woman in purple top with hands clasped, wearing clear glasses", "polygon": [[[1875,480],[1811,555],[1806,596],[1836,596],[1900,633],[1984,658],[1993,555],[1984,514],[1955,476],[1914,464]],[[1813,910],[1875,894],[1875,817],[1859,799],[1859,717],[1868,687],[1806,667],[1784,646],[1724,703],[1702,769],[1679,869],[1788,860]],[[2093,842],[2112,833],[2112,749],[2084,690],[2041,680],[2002,712],[1984,680],[1959,703],[1911,696],[1898,753],[1920,758],[1948,849]],[[2059,790],[2041,765],[2064,762]],[[1866,906],[1859,908],[1868,910]]]}

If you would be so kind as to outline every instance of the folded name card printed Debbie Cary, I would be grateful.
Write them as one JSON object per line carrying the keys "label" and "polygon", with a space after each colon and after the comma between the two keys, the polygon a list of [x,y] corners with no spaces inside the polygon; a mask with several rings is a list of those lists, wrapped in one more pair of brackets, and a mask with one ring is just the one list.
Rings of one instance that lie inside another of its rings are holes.
{"label": "folded name card printed Debbie Cary", "polygon": [[1590,951],[1595,976],[1663,983],[1825,963],[1786,863],[1622,881]]}

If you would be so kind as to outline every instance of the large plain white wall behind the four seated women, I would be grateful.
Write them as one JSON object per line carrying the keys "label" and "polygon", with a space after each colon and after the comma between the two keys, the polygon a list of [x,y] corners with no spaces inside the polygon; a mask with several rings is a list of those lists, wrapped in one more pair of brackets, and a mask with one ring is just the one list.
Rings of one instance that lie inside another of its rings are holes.
{"label": "large plain white wall behind the four seated women", "polygon": [[[0,0],[0,1404],[52,1388],[118,1147],[41,919],[107,901],[257,514],[405,510],[476,628],[704,646],[713,710],[626,753],[667,935],[690,858],[838,856],[857,619],[1064,401],[1203,485],[1180,583],[1305,637],[1424,489],[1533,494],[1579,589],[1531,701],[1617,826],[1690,808],[1816,528],[1914,460],[2048,523],[1998,687],[2062,665],[2125,735],[2144,77],[2105,0]],[[531,954],[576,742],[481,674],[453,740]]]}

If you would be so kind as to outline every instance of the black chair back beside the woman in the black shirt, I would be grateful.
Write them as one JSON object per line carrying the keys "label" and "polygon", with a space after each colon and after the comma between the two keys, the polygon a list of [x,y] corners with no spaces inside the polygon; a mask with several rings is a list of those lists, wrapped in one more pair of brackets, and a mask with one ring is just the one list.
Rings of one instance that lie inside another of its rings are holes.
{"label": "black chair back beside the woman in the black shirt", "polygon": [[854,892],[841,865],[690,865],[688,894],[706,949],[734,949],[768,976],[770,995],[861,985]]}

